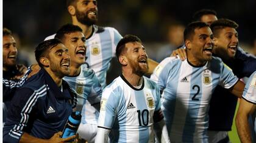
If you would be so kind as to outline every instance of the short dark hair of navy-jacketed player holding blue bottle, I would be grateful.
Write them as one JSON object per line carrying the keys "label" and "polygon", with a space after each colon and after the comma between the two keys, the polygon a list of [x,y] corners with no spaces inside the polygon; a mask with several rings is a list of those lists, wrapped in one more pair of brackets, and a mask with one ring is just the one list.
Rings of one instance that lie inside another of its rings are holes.
{"label": "short dark hair of navy-jacketed player holding blue bottle", "polygon": [[37,45],[37,47],[35,48],[35,59],[37,60],[40,67],[43,67],[43,65],[40,63],[40,58],[43,56],[48,57],[46,55],[46,52],[48,52],[49,50],[51,50],[51,48],[57,46],[58,44],[62,44],[62,41],[54,38],[43,41]]}

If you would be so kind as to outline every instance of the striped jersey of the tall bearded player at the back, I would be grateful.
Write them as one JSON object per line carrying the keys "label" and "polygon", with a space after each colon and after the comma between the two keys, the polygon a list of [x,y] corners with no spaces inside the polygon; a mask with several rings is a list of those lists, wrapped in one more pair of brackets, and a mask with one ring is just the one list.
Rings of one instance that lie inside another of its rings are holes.
{"label": "striped jersey of the tall bearded player at the back", "polygon": [[102,88],[106,85],[107,70],[116,54],[116,45],[122,38],[115,28],[94,26],[93,35],[87,39],[87,63],[99,78]]}

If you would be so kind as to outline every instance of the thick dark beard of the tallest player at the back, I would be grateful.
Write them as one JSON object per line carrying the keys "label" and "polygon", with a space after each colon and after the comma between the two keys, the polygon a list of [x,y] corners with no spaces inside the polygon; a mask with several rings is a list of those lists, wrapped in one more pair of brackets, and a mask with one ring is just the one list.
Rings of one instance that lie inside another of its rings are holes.
{"label": "thick dark beard of the tallest player at the back", "polygon": [[96,18],[88,18],[88,13],[90,11],[84,13],[84,12],[80,12],[79,10],[76,9],[76,18],[77,21],[79,21],[80,23],[84,24],[84,25],[93,25],[96,24],[96,22],[98,21],[98,16],[97,16],[97,11],[96,11]]}

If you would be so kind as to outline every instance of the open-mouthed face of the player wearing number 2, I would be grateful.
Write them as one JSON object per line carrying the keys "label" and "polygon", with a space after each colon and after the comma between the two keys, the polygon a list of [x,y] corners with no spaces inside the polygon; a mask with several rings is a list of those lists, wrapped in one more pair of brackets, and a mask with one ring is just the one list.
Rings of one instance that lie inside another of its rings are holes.
{"label": "open-mouthed face of the player wearing number 2", "polygon": [[196,28],[193,38],[186,43],[187,52],[192,56],[192,60],[203,64],[212,59],[213,33],[210,27]]}

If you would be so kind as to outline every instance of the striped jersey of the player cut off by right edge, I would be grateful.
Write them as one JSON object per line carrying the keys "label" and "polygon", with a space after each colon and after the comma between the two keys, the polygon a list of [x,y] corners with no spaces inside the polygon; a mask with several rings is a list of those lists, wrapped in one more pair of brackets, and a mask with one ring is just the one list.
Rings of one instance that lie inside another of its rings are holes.
{"label": "striped jersey of the player cut off by right edge", "polygon": [[[242,96],[246,101],[256,104],[256,71],[252,73],[246,86],[244,87],[244,92]],[[252,138],[256,140],[256,111],[252,114],[252,122],[254,122],[254,133],[252,133]]]}

